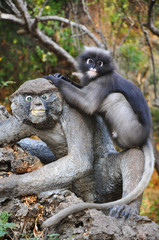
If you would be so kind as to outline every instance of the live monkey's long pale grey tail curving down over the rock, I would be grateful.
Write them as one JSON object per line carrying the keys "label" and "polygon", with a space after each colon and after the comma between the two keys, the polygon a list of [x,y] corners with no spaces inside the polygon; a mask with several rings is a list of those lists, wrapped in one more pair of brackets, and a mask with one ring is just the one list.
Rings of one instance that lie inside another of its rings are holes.
{"label": "live monkey's long pale grey tail curving down over the rock", "polygon": [[67,217],[70,214],[80,212],[85,209],[92,209],[96,208],[98,210],[106,210],[109,209],[115,205],[121,205],[121,204],[129,204],[130,202],[137,199],[144,191],[144,189],[147,187],[153,170],[154,170],[154,155],[153,155],[153,148],[150,140],[147,141],[147,143],[142,147],[142,151],[145,156],[145,166],[144,166],[144,172],[142,175],[142,178],[136,188],[127,196],[124,198],[121,198],[119,200],[109,202],[109,203],[79,203],[79,204],[73,204],[70,207],[67,207],[63,210],[61,210],[59,213],[55,214],[54,216],[48,218],[46,221],[43,222],[42,227],[50,227],[58,224],[62,219]]}

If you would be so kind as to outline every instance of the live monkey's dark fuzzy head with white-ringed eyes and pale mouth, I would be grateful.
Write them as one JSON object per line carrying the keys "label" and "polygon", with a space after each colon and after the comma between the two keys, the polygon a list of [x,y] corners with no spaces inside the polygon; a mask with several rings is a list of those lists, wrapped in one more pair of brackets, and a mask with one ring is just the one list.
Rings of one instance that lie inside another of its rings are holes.
{"label": "live monkey's dark fuzzy head with white-ringed eyes and pale mouth", "polygon": [[97,47],[85,47],[78,56],[79,70],[90,79],[112,72],[114,64],[109,51]]}

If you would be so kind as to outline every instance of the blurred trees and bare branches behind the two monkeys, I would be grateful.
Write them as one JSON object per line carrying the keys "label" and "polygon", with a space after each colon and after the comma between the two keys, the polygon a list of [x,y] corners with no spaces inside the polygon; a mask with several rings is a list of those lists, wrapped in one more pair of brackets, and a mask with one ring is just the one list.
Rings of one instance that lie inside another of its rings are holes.
{"label": "blurred trees and bare branches behind the two monkeys", "polygon": [[110,50],[117,71],[142,90],[158,147],[158,0],[0,1],[0,103],[8,106],[29,79],[56,72],[73,79],[84,45]]}

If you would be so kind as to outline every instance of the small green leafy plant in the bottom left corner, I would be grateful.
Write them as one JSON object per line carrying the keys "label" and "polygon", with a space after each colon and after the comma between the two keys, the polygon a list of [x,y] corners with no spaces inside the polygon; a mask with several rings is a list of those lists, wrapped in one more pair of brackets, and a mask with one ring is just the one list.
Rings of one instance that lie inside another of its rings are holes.
{"label": "small green leafy plant in the bottom left corner", "polygon": [[14,223],[9,223],[9,217],[11,216],[8,212],[2,212],[0,214],[0,237],[4,237],[8,234],[9,229],[13,229]]}

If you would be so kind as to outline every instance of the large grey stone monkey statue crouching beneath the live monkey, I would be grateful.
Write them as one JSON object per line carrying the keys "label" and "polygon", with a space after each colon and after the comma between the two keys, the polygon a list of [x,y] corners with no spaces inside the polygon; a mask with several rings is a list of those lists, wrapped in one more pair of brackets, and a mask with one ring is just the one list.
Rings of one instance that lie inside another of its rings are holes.
{"label": "large grey stone monkey statue crouching beneath the live monkey", "polygon": [[[31,173],[0,179],[2,203],[70,184],[85,201],[110,202],[128,195],[140,181],[143,153],[139,149],[117,153],[102,119],[70,108],[46,79],[25,82],[10,100],[13,116],[0,107],[0,145],[36,134],[58,160]],[[113,208],[111,216],[138,218],[140,204],[141,196]]]}

